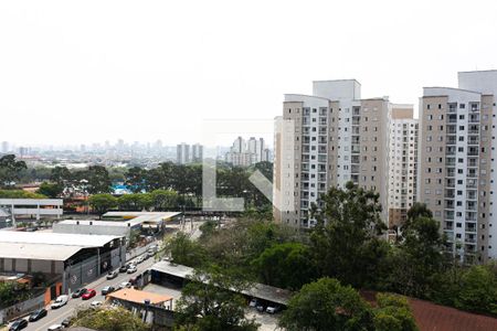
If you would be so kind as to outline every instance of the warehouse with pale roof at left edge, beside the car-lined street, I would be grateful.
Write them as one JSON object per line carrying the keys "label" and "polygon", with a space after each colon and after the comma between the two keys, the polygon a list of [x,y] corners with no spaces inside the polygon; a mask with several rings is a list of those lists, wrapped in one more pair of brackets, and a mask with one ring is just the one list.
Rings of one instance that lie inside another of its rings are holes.
{"label": "warehouse with pale roof at left edge, beside the car-lined street", "polygon": [[75,290],[126,261],[123,236],[0,231],[0,273],[42,273]]}

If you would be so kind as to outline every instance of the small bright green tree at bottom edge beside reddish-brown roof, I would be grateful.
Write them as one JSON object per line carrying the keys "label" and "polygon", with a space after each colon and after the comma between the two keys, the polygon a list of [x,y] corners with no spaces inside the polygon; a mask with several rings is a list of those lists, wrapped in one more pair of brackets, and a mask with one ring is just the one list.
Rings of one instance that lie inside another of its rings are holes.
{"label": "small bright green tree at bottom edge beside reddish-brown roof", "polygon": [[417,325],[404,297],[377,295],[378,308],[373,310],[377,331],[417,331]]}

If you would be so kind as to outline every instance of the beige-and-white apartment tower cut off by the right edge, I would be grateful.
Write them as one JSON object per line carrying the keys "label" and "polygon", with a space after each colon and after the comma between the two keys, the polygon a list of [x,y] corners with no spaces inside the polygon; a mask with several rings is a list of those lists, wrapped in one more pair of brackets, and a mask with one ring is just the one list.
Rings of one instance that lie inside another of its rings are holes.
{"label": "beige-and-white apartment tower cut off by the right edge", "polygon": [[425,87],[420,103],[420,201],[464,261],[497,258],[497,71],[458,74],[458,87]]}

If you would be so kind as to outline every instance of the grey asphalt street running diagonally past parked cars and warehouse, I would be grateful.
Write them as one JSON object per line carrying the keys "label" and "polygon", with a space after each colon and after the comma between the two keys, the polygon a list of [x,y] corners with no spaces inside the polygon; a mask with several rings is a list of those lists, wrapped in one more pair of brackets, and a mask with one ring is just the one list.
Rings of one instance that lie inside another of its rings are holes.
{"label": "grey asphalt street running diagonally past parked cars and warehouse", "polygon": [[95,297],[93,297],[92,299],[89,299],[87,301],[84,301],[82,299],[70,298],[67,305],[65,305],[62,308],[54,309],[54,310],[52,310],[52,309],[50,309],[50,307],[47,307],[46,308],[46,310],[49,311],[47,316],[36,322],[29,323],[28,328],[24,330],[27,330],[27,331],[46,331],[49,329],[49,327],[51,327],[53,324],[60,324],[65,318],[72,316],[76,308],[78,308],[81,306],[88,307],[93,301],[104,302],[105,297],[103,297],[101,295],[101,291],[104,287],[106,287],[106,286],[116,287],[124,281],[128,281],[129,278],[144,273],[146,269],[151,267],[154,264],[155,264],[154,257],[150,257],[149,259],[139,264],[137,266],[138,270],[134,274],[119,274],[119,276],[117,276],[116,278],[110,279],[110,280],[107,280],[106,275],[104,275],[99,279],[97,279],[94,282],[88,284],[86,286],[87,289],[96,290],[97,295]]}

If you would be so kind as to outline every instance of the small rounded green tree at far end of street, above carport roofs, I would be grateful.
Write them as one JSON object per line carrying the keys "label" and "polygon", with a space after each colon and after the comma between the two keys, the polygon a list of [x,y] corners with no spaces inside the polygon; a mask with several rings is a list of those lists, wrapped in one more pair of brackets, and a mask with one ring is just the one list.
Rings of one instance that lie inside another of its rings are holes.
{"label": "small rounded green tree at far end of street, above carport roofs", "polygon": [[205,260],[203,247],[199,243],[191,241],[183,232],[179,232],[165,241],[160,254],[170,256],[171,261],[175,264],[189,267],[199,267]]}

